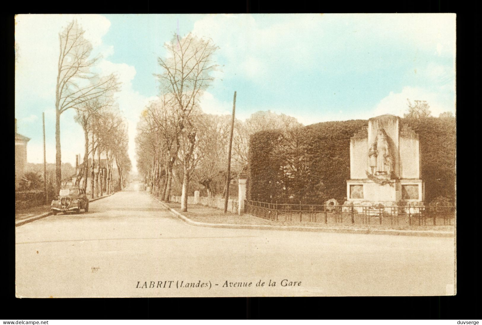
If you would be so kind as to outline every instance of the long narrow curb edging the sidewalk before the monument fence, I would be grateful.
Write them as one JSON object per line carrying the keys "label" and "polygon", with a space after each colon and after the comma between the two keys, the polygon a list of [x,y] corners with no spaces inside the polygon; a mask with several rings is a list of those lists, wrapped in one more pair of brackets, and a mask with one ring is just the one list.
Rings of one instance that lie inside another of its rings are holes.
{"label": "long narrow curb edging the sidewalk before the monument fence", "polygon": [[[152,196],[154,197],[154,196]],[[206,223],[193,221],[183,214],[177,212],[173,208],[169,208],[164,202],[154,197],[164,208],[174,213],[182,221],[197,227],[210,228],[230,228],[230,229],[255,229],[255,230],[282,230],[282,231],[305,231],[320,233],[338,233],[338,234],[384,234],[394,236],[420,236],[420,237],[454,237],[455,233],[451,232],[427,232],[423,230],[381,230],[381,229],[349,229],[349,228],[324,228],[324,227],[301,227],[301,226],[272,226],[272,225],[254,225],[254,224],[228,224],[228,223]]]}

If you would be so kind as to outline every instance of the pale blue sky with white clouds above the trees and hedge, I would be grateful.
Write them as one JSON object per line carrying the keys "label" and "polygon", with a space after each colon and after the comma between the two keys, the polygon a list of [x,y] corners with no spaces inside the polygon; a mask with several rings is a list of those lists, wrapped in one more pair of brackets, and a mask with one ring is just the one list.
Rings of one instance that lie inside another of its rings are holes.
{"label": "pale blue sky with white clouds above the trees and hedge", "polygon": [[[270,110],[304,125],[403,116],[407,99],[426,100],[433,116],[455,113],[455,14],[21,14],[15,18],[15,117],[31,140],[27,161],[55,161],[55,82],[58,33],[77,19],[102,59],[101,74],[122,82],[117,102],[135,132],[157,98],[158,57],[175,34],[192,32],[219,47],[214,82],[201,97],[210,114],[236,117]],[[62,162],[83,155],[75,112],[61,116]]]}

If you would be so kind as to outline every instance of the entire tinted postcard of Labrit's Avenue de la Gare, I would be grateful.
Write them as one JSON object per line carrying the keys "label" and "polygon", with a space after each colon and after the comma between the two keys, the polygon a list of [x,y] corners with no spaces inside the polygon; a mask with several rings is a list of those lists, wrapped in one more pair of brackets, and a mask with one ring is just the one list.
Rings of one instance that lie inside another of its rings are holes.
{"label": "entire tinted postcard of Labrit's Avenue de la Gare", "polygon": [[16,15],[15,296],[456,295],[455,19]]}

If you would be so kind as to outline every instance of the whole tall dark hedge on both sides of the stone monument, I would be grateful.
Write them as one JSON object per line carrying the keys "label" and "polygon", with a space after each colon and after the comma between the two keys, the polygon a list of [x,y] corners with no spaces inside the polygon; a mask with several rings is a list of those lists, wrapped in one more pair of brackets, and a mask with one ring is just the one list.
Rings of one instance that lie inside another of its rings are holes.
{"label": "whole tall dark hedge on both sides of the stone monument", "polygon": [[[426,201],[455,197],[455,119],[402,119],[420,135]],[[367,120],[323,122],[292,130],[257,132],[250,139],[248,198],[322,204],[346,199],[350,137]]]}

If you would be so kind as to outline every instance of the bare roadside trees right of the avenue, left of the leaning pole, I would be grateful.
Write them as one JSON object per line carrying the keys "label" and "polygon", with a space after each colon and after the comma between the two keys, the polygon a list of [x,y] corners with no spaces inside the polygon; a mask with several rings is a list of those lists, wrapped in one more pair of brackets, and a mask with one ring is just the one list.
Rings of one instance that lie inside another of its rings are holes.
{"label": "bare roadside trees right of the avenue, left of the leaning pole", "polygon": [[142,113],[136,138],[138,168],[146,174],[154,193],[169,201],[174,167],[182,169],[182,203],[187,210],[187,191],[192,172],[206,153],[212,121],[199,106],[217,69],[213,56],[217,47],[210,39],[191,34],[174,35],[165,44],[167,55],[158,58],[162,73],[160,98]]}

